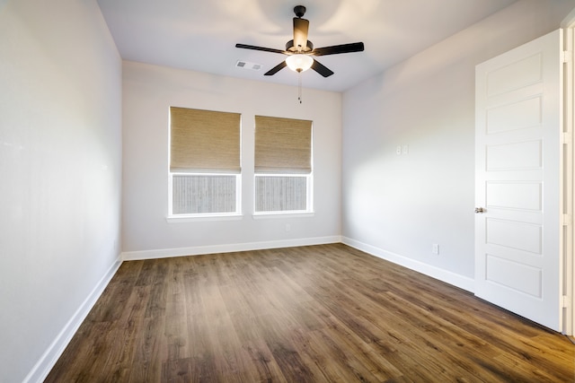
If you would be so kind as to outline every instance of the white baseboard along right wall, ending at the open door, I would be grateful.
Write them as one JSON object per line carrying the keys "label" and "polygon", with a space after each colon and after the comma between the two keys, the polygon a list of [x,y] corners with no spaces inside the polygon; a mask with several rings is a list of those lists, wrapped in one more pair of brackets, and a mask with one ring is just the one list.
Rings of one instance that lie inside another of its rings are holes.
{"label": "white baseboard along right wall, ending at the open door", "polygon": [[438,279],[439,281],[453,284],[454,286],[459,287],[460,289],[464,289],[468,292],[474,292],[475,290],[475,283],[473,278],[468,278],[461,274],[455,274],[433,265],[424,264],[423,262],[400,256],[399,254],[392,253],[391,251],[386,251],[382,248],[376,248],[374,246],[367,245],[366,243],[359,242],[355,239],[342,237],[341,242],[352,248],[357,248],[358,250],[364,251],[367,254],[371,254],[372,256],[385,259],[397,265],[402,265],[421,274],[429,275],[430,277]]}

